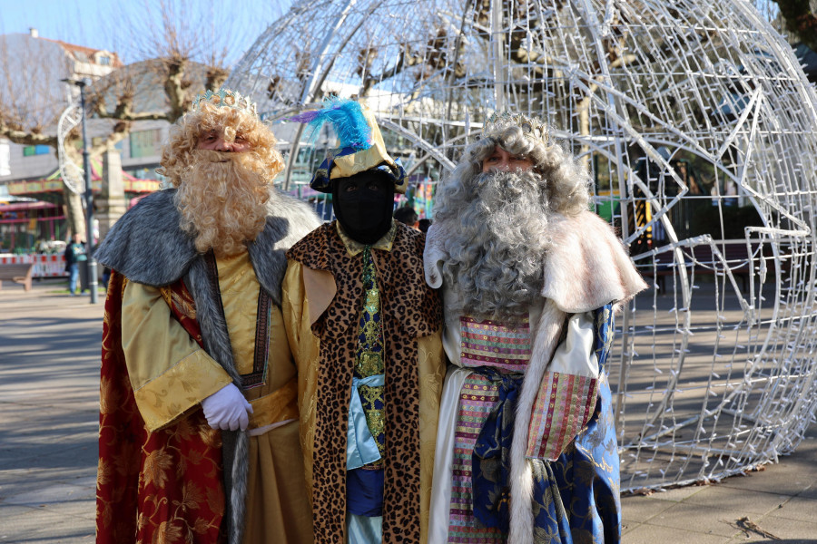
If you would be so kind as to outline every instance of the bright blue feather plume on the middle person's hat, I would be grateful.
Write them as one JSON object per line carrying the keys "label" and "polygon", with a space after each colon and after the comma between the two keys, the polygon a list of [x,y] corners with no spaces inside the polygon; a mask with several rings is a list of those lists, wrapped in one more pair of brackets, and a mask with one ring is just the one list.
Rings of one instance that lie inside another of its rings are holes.
{"label": "bright blue feather plume on the middle person's hat", "polygon": [[329,96],[324,99],[322,109],[301,113],[288,121],[307,123],[311,130],[308,141],[314,140],[323,123],[330,122],[340,140],[340,149],[350,147],[361,151],[371,147],[371,127],[363,116],[363,108],[348,98]]}

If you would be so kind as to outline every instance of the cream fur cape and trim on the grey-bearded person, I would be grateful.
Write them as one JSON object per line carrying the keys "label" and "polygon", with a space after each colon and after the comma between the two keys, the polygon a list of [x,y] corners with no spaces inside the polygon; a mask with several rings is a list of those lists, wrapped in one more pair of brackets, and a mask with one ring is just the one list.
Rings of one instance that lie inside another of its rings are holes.
{"label": "cream fur cape and trim on the grey-bearded person", "polygon": [[[428,231],[423,257],[430,287],[443,285],[442,264],[448,258],[445,241],[456,228],[453,222],[439,222]],[[533,474],[525,457],[528,428],[536,393],[556,351],[567,315],[596,310],[611,302],[625,302],[647,287],[613,228],[596,214],[589,211],[576,216],[554,213],[550,218],[549,233],[551,248],[546,262],[542,263],[544,287],[541,295],[546,303],[538,323],[531,324],[533,349],[517,403],[511,445],[508,541],[515,544],[533,543]]]}

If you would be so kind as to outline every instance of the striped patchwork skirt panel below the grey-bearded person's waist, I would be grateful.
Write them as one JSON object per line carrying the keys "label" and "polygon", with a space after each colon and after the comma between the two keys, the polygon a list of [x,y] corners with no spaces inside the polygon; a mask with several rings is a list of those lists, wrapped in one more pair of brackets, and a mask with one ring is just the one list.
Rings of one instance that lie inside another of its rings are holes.
{"label": "striped patchwork skirt panel below the grey-bearded person's waist", "polygon": [[454,438],[448,542],[491,544],[505,542],[499,529],[482,527],[474,518],[471,471],[474,444],[487,416],[499,400],[497,384],[471,374],[459,391],[459,413]]}

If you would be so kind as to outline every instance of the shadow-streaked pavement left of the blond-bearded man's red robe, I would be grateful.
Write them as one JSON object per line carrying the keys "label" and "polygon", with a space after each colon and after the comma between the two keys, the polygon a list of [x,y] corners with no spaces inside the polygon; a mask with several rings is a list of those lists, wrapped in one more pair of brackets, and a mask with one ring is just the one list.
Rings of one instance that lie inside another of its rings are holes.
{"label": "shadow-streaked pavement left of the blond-bearded man's red robe", "polygon": [[66,285],[0,291],[3,544],[94,542],[104,305]]}

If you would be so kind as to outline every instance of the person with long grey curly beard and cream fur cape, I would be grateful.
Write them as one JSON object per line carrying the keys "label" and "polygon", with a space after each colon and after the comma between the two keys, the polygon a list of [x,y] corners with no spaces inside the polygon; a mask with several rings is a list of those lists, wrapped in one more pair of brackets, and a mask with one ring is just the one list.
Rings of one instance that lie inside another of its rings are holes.
{"label": "person with long grey curly beard and cream fur cape", "polygon": [[429,542],[619,542],[605,361],[645,287],[589,176],[524,115],[493,116],[439,187],[425,272],[450,365]]}

